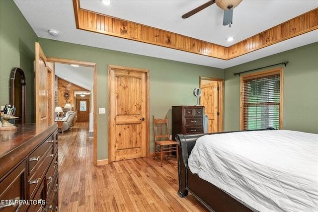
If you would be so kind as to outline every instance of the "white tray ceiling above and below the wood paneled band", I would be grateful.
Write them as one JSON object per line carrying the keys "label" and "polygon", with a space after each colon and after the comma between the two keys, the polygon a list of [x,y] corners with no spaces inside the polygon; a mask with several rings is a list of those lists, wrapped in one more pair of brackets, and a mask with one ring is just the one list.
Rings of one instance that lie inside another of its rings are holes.
{"label": "white tray ceiling above and below the wood paneled band", "polygon": [[[318,42],[318,30],[242,55],[229,61],[76,29],[72,0],[14,0],[38,37],[216,68],[229,68],[272,54]],[[230,46],[318,7],[318,0],[243,0],[232,27],[223,26],[223,10],[212,4],[199,13],[181,15],[207,0],[80,0],[81,8]],[[36,11],[36,12],[35,12]],[[55,29],[60,35],[48,34]],[[228,43],[227,37],[234,41]]]}

